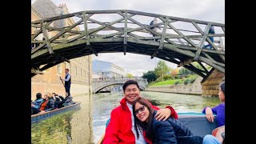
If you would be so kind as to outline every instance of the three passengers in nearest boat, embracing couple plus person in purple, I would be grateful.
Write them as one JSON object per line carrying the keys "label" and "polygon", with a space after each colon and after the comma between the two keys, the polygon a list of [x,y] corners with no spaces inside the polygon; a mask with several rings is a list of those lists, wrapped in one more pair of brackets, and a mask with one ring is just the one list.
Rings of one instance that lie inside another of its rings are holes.
{"label": "three passengers in nearest boat, embracing couple plus person in purple", "polygon": [[[146,98],[140,97],[138,82],[129,80],[123,85],[124,98],[120,106],[112,110],[106,124],[103,144],[109,143],[175,143],[175,144],[223,144],[225,137],[225,82],[219,87],[222,104],[202,111],[209,122],[217,114],[218,126],[223,127],[222,138],[206,134],[204,138],[192,132],[178,121],[178,114],[172,106],[160,109]],[[214,130],[213,130],[214,131]],[[217,132],[218,133],[218,132]],[[223,136],[224,134],[224,136]]]}

